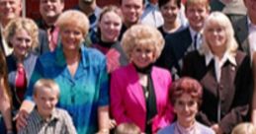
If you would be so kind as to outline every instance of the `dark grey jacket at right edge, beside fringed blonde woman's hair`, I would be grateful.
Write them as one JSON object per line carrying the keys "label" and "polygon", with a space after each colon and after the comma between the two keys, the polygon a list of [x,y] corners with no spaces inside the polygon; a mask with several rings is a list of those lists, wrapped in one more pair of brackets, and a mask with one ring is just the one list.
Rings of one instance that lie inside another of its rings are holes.
{"label": "dark grey jacket at right edge, beside fringed blonde woman's hair", "polygon": [[250,54],[249,47],[249,28],[248,28],[248,20],[247,16],[244,16],[233,23],[233,29],[235,33],[236,41],[239,44],[239,49],[244,51],[247,54]]}

